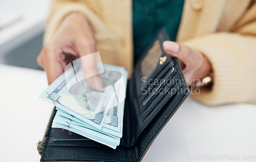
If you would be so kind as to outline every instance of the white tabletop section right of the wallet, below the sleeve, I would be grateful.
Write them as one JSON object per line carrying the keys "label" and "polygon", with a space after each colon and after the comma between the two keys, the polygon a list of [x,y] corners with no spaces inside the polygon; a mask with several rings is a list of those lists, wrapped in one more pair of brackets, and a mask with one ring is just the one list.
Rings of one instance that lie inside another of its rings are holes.
{"label": "white tabletop section right of the wallet, below the sleeve", "polygon": [[205,106],[188,98],[160,132],[143,162],[256,161],[255,117],[256,105]]}

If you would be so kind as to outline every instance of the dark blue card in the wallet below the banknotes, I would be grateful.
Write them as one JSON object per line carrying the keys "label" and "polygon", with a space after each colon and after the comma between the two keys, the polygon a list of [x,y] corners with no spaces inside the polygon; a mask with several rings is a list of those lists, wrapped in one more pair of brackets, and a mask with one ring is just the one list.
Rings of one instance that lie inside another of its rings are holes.
{"label": "dark blue card in the wallet below the banknotes", "polygon": [[77,141],[77,140],[90,140],[87,137],[81,136],[74,132],[61,128],[52,128],[53,141]]}

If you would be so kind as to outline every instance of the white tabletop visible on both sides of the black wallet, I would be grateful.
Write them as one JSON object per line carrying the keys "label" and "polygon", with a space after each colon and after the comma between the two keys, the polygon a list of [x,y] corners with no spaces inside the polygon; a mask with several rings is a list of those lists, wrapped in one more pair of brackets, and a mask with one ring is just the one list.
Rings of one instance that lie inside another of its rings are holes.
{"label": "white tabletop visible on both sides of the black wallet", "polygon": [[[0,161],[39,161],[36,143],[45,133],[53,108],[38,97],[48,86],[46,74],[7,65],[0,65],[0,74]],[[187,99],[143,162],[222,154],[256,156],[255,114],[256,105],[209,107]]]}

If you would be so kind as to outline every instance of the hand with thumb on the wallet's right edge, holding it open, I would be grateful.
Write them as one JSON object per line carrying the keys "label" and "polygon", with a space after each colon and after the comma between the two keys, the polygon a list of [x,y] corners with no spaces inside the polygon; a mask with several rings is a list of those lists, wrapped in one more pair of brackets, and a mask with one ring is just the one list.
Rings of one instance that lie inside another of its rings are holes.
{"label": "hand with thumb on the wallet's right edge, holding it open", "polygon": [[193,86],[212,72],[209,60],[197,50],[174,41],[164,41],[163,49],[166,54],[178,58],[189,86]]}

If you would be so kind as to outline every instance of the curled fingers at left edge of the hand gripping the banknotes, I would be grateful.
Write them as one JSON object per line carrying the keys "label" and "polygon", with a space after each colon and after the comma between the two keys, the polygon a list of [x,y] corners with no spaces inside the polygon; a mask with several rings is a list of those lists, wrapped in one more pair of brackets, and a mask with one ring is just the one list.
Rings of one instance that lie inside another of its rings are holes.
{"label": "curled fingers at left edge of the hand gripping the banknotes", "polygon": [[61,50],[43,48],[37,57],[37,63],[44,68],[50,85],[59,75],[63,73],[65,65],[61,58]]}

